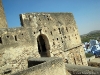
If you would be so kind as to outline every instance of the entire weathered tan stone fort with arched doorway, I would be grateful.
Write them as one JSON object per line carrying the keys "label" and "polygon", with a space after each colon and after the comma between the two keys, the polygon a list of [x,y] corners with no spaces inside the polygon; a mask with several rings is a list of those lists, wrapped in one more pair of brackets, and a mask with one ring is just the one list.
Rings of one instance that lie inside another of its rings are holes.
{"label": "entire weathered tan stone fort with arched doorway", "polygon": [[[0,75],[44,75],[39,68],[44,68],[45,75],[66,75],[64,62],[87,66],[72,13],[24,13],[20,14],[20,23],[21,27],[8,28],[0,0]],[[35,67],[26,73],[30,66]]]}

